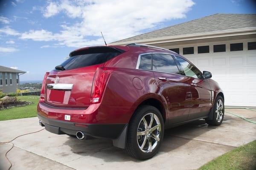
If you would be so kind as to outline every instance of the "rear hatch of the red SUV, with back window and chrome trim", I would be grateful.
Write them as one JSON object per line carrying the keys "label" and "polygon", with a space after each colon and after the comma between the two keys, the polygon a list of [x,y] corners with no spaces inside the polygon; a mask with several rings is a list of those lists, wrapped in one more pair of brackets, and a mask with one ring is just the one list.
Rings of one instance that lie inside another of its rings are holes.
{"label": "rear hatch of the red SUV, with back window and chrome trim", "polygon": [[125,52],[110,46],[90,47],[70,53],[46,79],[45,102],[56,107],[87,108],[96,69]]}

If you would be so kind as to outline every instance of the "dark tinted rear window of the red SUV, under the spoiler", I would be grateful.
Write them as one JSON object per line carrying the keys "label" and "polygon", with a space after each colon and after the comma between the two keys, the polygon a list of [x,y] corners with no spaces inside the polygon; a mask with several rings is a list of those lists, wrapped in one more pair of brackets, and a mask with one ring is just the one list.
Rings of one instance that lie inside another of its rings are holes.
{"label": "dark tinted rear window of the red SUV, under the spoiler", "polygon": [[76,69],[104,63],[122,54],[124,51],[111,47],[92,47],[82,51],[70,53],[70,58],[55,67],[55,71]]}

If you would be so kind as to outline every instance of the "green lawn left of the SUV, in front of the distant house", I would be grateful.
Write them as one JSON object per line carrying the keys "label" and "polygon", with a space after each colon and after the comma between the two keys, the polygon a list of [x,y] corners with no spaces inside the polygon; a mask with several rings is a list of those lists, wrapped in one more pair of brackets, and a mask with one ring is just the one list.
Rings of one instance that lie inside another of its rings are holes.
{"label": "green lawn left of the SUV, in front of the distant house", "polygon": [[17,119],[17,118],[30,118],[37,116],[37,104],[39,101],[37,95],[17,96],[21,101],[32,101],[34,104],[29,104],[23,107],[15,107],[12,109],[0,110],[0,121]]}

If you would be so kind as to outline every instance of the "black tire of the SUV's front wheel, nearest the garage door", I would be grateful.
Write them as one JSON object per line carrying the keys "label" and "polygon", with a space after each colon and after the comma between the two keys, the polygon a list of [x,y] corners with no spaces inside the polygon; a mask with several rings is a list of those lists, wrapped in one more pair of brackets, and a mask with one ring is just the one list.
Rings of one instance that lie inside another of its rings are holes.
{"label": "black tire of the SUV's front wheel, nearest the garage door", "polygon": [[[216,113],[216,110],[217,110],[217,103],[218,101],[222,102],[223,104],[223,109],[221,109],[221,112],[222,112],[222,117],[221,119],[219,119],[219,121],[217,120],[218,118],[218,113]],[[208,119],[205,119],[206,123],[209,124],[209,125],[212,125],[212,126],[219,126],[221,125],[222,121],[223,121],[223,118],[224,118],[224,111],[225,111],[225,108],[224,108],[224,100],[221,96],[217,96],[216,99],[215,99],[215,102],[214,102],[214,106],[212,107],[212,120],[208,120]]]}

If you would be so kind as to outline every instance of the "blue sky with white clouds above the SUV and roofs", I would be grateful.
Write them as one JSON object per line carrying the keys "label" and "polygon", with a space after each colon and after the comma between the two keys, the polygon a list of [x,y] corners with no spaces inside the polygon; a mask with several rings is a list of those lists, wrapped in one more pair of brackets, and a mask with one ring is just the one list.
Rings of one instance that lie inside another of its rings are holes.
{"label": "blue sky with white clouds above the SUV and roofs", "polygon": [[[142,8],[143,7],[143,8]],[[253,0],[2,0],[0,65],[41,80],[71,51],[216,13],[256,13]]]}

